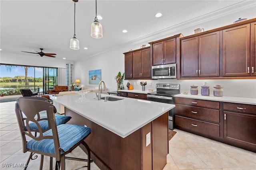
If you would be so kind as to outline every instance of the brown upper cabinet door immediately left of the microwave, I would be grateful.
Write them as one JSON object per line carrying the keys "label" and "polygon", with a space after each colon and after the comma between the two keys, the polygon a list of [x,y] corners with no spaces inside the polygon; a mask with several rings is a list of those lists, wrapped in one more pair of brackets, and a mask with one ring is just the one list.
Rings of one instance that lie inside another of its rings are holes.
{"label": "brown upper cabinet door immediately left of the microwave", "polygon": [[150,49],[144,49],[141,51],[141,76],[142,78],[151,78],[150,73]]}

